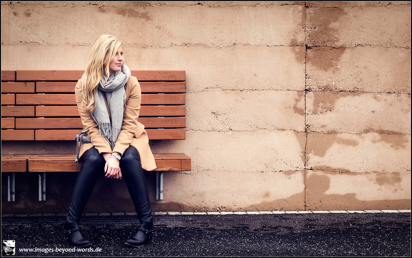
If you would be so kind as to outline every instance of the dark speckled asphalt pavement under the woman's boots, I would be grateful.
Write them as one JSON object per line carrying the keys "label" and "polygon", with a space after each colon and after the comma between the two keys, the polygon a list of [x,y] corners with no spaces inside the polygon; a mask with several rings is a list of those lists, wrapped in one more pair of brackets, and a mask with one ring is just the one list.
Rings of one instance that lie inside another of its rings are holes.
{"label": "dark speckled asphalt pavement under the woman's boots", "polygon": [[[2,217],[14,256],[410,256],[411,213],[155,215],[153,243],[123,243],[136,216],[84,216],[88,249],[64,243],[64,216]],[[5,256],[5,255],[2,255]]]}

